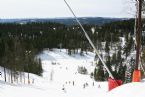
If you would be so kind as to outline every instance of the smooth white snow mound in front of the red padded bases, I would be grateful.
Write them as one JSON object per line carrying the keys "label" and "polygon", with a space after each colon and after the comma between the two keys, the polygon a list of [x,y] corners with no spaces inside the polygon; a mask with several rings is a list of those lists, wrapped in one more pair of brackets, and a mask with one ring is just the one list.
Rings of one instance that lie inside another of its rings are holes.
{"label": "smooth white snow mound in front of the red padded bases", "polygon": [[108,92],[107,97],[144,97],[145,83],[134,82]]}

